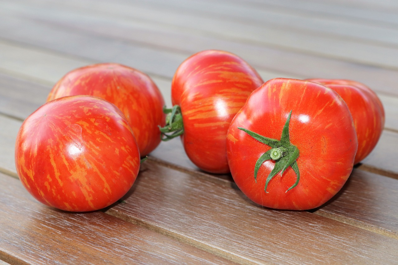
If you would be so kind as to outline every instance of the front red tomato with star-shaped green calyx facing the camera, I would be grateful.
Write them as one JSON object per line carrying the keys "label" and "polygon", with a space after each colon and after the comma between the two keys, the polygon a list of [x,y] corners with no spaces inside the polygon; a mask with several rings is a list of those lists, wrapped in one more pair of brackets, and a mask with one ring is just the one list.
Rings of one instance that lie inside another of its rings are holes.
{"label": "front red tomato with star-shaped green calyx facing the camera", "polygon": [[271,79],[255,90],[227,135],[236,185],[255,203],[276,209],[326,203],[347,181],[357,147],[343,99],[295,79]]}

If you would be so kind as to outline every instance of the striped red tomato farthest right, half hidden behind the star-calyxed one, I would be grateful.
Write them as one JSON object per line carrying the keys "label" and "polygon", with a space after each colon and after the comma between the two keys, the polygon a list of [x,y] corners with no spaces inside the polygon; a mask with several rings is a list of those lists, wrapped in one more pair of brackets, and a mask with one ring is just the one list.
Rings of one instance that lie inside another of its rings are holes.
{"label": "striped red tomato farthest right, half hidden behind the star-calyxed one", "polygon": [[347,103],[354,119],[358,151],[354,164],[375,148],[384,128],[384,108],[375,92],[359,82],[334,79],[307,79],[336,91]]}

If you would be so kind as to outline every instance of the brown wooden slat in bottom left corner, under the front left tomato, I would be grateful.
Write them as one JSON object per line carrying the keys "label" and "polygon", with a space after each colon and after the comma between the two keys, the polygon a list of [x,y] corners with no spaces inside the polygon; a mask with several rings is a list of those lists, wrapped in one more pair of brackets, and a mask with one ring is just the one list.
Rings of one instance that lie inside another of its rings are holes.
{"label": "brown wooden slat in bottom left corner, under the front left tomato", "polygon": [[2,173],[0,193],[0,259],[12,264],[231,263],[103,212],[46,207]]}

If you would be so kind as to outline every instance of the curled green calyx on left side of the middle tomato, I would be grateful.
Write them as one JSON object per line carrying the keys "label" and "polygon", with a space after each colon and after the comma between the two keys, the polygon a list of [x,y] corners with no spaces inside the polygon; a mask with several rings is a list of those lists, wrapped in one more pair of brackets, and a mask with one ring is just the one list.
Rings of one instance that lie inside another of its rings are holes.
{"label": "curled green calyx on left side of the middle tomato", "polygon": [[160,127],[162,141],[171,140],[184,133],[184,125],[182,123],[181,108],[179,105],[174,105],[172,109],[163,108],[163,112],[166,113],[166,125]]}

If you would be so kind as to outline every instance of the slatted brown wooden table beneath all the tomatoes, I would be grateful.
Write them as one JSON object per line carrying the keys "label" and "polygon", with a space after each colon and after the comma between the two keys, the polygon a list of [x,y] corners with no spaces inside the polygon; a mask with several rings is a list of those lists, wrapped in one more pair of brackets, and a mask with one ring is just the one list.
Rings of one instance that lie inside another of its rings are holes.
{"label": "slatted brown wooden table beneath all the tomatoes", "polygon": [[[118,62],[149,74],[171,106],[178,65],[230,51],[264,80],[347,78],[386,110],[375,150],[311,211],[250,202],[230,175],[189,162],[179,139],[150,154],[124,203],[46,207],[22,187],[22,121],[66,72]],[[398,4],[388,0],[1,0],[0,264],[398,264]]]}

